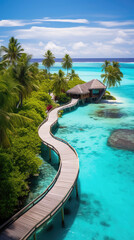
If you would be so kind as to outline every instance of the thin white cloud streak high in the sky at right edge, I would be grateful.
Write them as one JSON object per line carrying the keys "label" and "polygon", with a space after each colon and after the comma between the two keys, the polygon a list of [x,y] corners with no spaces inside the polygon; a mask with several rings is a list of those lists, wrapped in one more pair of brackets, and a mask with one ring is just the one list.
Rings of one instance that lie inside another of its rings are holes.
{"label": "thin white cloud streak high in the sky at right edge", "polygon": [[128,25],[134,25],[134,21],[96,21],[95,23],[98,23],[104,27],[119,27],[119,26],[128,26]]}

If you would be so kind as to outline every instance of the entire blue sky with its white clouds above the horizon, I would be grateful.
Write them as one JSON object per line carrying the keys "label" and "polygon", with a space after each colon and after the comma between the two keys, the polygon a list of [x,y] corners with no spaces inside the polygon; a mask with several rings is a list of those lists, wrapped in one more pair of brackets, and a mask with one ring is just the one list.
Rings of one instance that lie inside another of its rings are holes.
{"label": "entire blue sky with its white clouds above the horizon", "polygon": [[0,45],[33,57],[134,57],[134,0],[0,0]]}

